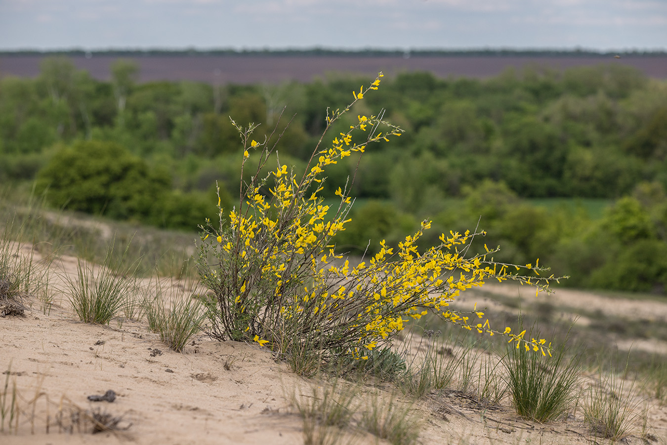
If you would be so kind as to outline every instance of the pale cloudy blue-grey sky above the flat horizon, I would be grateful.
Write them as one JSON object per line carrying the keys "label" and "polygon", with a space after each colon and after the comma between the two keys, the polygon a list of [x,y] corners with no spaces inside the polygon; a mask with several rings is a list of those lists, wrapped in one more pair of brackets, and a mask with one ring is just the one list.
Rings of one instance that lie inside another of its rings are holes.
{"label": "pale cloudy blue-grey sky above the flat horizon", "polygon": [[667,49],[667,0],[0,0],[0,50]]}

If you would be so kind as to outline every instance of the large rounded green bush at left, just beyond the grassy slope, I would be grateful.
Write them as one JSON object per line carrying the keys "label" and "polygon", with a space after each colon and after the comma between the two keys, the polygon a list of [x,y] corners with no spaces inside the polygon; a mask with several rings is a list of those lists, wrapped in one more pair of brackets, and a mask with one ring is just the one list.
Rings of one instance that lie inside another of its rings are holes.
{"label": "large rounded green bush at left, just beyond the grassy slope", "polygon": [[[61,147],[37,175],[37,191],[55,207],[194,230],[215,216],[213,194],[171,189],[171,177],[109,141]],[[225,199],[225,204],[227,203]]]}

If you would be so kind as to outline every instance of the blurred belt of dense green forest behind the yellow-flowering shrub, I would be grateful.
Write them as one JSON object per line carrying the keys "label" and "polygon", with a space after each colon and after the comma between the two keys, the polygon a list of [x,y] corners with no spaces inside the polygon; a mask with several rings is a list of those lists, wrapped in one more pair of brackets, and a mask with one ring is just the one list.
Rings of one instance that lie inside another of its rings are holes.
{"label": "blurred belt of dense green forest behind the yellow-flowering shrub", "polygon": [[[57,208],[195,230],[215,215],[216,181],[228,207],[238,194],[230,116],[260,123],[253,138],[299,171],[327,107],[372,81],[137,83],[137,69],[119,59],[98,81],[54,57],[35,79],[0,79],[2,183]],[[340,250],[373,240],[372,252],[429,217],[425,242],[479,224],[474,248],[500,244],[496,260],[540,258],[570,286],[666,292],[667,83],[623,65],[385,79],[331,133],[379,113],[406,130],[329,170],[325,195],[354,177],[358,199]]]}

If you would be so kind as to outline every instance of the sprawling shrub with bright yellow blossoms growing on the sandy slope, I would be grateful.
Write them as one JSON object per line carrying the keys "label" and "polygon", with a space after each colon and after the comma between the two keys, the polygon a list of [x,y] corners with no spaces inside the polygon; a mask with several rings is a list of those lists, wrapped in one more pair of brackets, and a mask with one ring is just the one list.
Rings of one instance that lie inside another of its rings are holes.
{"label": "sprawling shrub with bright yellow blossoms growing on the sandy slope", "polygon": [[516,280],[546,290],[556,279],[539,276],[545,269],[537,263],[498,264],[488,258],[495,250],[468,255],[470,242],[484,232],[442,234],[439,246],[420,252],[418,240],[430,228],[426,220],[397,248],[382,242],[377,254],[358,264],[336,253],[336,234],[350,221],[351,183],[338,187],[338,205],[325,205],[318,193],[327,166],[352,153],[362,155],[369,144],[400,137],[403,130],[384,121],[382,113],[358,115],[348,131],[325,138],[331,125],[378,89],[381,80],[382,73],[370,86],[354,91],[344,109],[327,110],[326,129],[300,175],[278,161],[261,177],[269,159],[279,159],[277,153],[269,156],[273,148],[266,140],[251,139],[256,125],[242,128],[232,121],[243,142],[241,177],[250,166],[255,173],[241,182],[236,207],[219,208],[217,224],[201,226],[197,267],[209,289],[209,334],[218,340],[257,342],[281,354],[309,344],[325,356],[360,357],[364,348],[388,342],[409,320],[432,313],[466,330],[502,334],[517,347],[548,354],[544,339],[529,340],[525,331],[513,334],[510,328],[496,331],[476,308],[470,313],[450,310],[460,292],[486,280]]}

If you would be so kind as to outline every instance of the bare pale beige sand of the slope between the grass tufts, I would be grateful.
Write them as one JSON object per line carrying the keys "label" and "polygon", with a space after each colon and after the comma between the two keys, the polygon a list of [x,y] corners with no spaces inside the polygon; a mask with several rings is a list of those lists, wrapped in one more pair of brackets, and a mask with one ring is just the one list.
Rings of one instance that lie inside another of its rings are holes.
{"label": "bare pale beige sand of the slope between the grass tufts", "polygon": [[[0,432],[0,444],[303,443],[303,422],[290,400],[295,393],[307,397],[311,387],[327,382],[296,376],[257,345],[197,336],[177,353],[167,349],[145,322],[113,321],[110,326],[78,322],[67,296],[59,292],[63,276],[75,274],[76,264],[75,258],[63,257],[51,265],[56,272],[51,274],[56,303],[51,312],[43,314],[39,301],[31,300],[25,317],[0,318],[0,370],[5,374],[0,375],[0,385],[9,372],[10,388],[15,383],[20,394],[19,406],[28,407],[21,412],[17,431]],[[517,292],[502,286],[492,291]],[[645,311],[641,316],[667,314],[667,304],[621,300],[610,304],[602,296],[584,292],[558,290],[550,298],[600,310]],[[87,400],[107,390],[117,394],[114,402]],[[378,388],[368,382],[356,391],[363,404]],[[409,402],[386,388],[382,394],[398,403]],[[665,443],[667,406],[642,397],[650,406],[650,438],[656,439],[650,443]],[[456,393],[432,394],[412,408],[422,444],[606,443],[586,430],[580,409],[567,420],[535,424],[518,418],[509,406],[480,406]],[[79,409],[121,417],[118,426],[129,428],[90,434],[89,422],[81,417],[72,432],[57,425],[59,410],[66,414],[61,424],[67,426],[71,412]],[[637,434],[626,443],[645,443],[638,437],[640,420],[636,426]],[[340,438],[339,443],[387,443],[361,433]]]}

